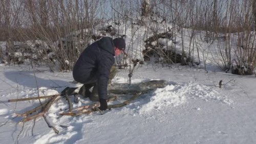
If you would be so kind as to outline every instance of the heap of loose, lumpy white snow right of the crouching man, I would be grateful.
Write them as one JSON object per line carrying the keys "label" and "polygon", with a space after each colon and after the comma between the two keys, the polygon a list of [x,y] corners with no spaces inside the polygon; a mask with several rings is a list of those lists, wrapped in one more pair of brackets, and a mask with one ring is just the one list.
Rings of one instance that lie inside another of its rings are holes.
{"label": "heap of loose, lumpy white snow right of the crouching man", "polygon": [[146,104],[143,104],[139,113],[148,113],[159,111],[164,108],[177,107],[188,99],[203,99],[205,101],[217,100],[227,105],[231,105],[231,100],[219,94],[215,87],[189,83],[183,85],[168,85],[165,88],[159,88],[152,94]]}

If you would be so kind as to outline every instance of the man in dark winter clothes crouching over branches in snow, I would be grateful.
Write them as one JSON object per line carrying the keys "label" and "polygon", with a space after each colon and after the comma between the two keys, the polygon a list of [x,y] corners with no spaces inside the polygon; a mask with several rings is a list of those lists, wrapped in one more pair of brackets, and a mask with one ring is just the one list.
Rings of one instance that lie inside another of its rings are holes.
{"label": "man in dark winter clothes crouching over branches in snow", "polygon": [[[113,67],[114,57],[121,54],[124,49],[123,38],[102,37],[84,49],[74,66],[74,79],[84,84],[79,94],[100,101],[100,110],[108,108],[106,99],[109,78],[112,79],[116,73],[116,68]],[[93,90],[90,92],[92,87]]]}

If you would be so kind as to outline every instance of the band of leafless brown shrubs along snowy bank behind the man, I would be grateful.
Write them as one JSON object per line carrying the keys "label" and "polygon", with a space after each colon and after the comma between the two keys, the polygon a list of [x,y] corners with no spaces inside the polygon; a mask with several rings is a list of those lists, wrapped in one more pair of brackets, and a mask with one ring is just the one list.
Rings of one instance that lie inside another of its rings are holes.
{"label": "band of leafless brown shrubs along snowy bank behind the man", "polygon": [[[220,69],[248,65],[253,70],[255,34],[251,31],[256,29],[255,11],[255,1],[3,0],[0,40],[8,43],[0,51],[0,58],[8,64],[26,63],[29,59],[32,66],[46,64],[54,70],[58,65],[60,71],[72,70],[91,42],[101,36],[122,36],[130,42],[126,45],[130,56],[116,57],[118,65],[143,57],[141,53],[148,58],[153,52],[163,66],[194,65],[197,57],[206,69],[209,52],[215,49],[214,60]],[[131,37],[126,36],[127,29],[131,29]],[[159,43],[161,34],[165,36],[164,45]],[[145,41],[153,35],[157,36],[157,46],[147,49]],[[143,42],[137,43],[138,38]],[[145,47],[136,49],[141,45]],[[15,59],[17,54],[22,57]]]}

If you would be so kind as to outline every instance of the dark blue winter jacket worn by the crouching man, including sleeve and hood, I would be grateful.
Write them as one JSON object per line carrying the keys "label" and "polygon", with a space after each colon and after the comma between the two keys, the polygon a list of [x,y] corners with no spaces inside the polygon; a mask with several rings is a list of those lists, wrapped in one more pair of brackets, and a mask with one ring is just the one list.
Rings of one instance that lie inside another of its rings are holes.
{"label": "dark blue winter jacket worn by the crouching man, including sleeve and hood", "polygon": [[73,69],[73,77],[83,84],[98,82],[99,98],[106,99],[110,69],[115,62],[115,45],[111,37],[102,37],[88,46]]}

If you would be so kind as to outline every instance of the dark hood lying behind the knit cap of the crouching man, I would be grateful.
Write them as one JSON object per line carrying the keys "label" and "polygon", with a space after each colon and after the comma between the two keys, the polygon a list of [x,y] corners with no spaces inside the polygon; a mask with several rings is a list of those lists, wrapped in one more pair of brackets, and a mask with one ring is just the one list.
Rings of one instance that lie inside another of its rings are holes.
{"label": "dark hood lying behind the knit cap of the crouching man", "polygon": [[111,37],[102,37],[97,41],[97,44],[100,49],[107,51],[115,56],[115,45]]}

